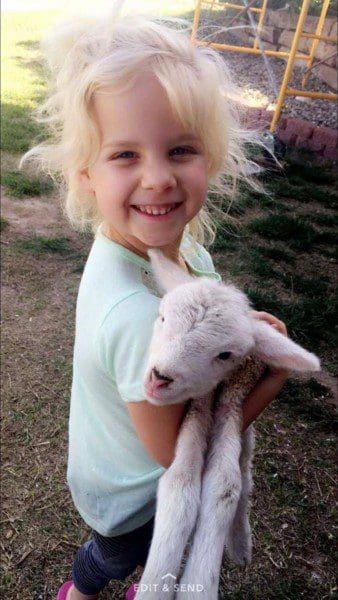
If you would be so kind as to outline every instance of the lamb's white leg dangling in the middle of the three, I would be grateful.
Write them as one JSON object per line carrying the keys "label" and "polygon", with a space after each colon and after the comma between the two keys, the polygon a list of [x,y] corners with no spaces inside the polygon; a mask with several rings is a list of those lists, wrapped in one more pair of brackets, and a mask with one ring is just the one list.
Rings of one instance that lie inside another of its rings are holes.
{"label": "lamb's white leg dangling in the middle of the three", "polygon": [[240,429],[240,406],[236,402],[220,405],[202,477],[200,512],[177,599],[193,600],[198,591],[203,600],[217,600],[224,540],[229,536],[241,493]]}

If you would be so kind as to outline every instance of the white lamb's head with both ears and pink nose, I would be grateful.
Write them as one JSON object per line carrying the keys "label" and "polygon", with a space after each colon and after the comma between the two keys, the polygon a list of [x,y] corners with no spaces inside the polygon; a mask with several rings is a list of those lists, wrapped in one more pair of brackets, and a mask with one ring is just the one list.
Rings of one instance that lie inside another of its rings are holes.
{"label": "white lamb's head with both ears and pink nose", "polygon": [[154,324],[144,378],[150,402],[174,404],[207,394],[249,354],[276,366],[319,368],[314,355],[254,319],[247,297],[234,285],[191,277],[160,250],[148,254],[158,284],[166,292]]}

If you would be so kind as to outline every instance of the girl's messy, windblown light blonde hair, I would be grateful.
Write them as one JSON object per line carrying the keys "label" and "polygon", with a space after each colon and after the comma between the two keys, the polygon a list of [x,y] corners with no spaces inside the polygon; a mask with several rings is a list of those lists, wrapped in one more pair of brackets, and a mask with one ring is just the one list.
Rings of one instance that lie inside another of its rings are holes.
{"label": "girl's messy, windblown light blonde hair", "polygon": [[211,196],[186,225],[193,239],[206,245],[214,241],[218,224],[227,221],[222,196],[231,202],[239,180],[257,187],[244,149],[255,136],[239,126],[237,91],[226,64],[212,48],[191,43],[190,27],[183,19],[130,18],[113,9],[68,17],[46,32],[41,48],[51,88],[35,118],[47,124],[50,140],[26,152],[20,168],[33,161],[53,178],[75,228],[95,231],[100,221],[94,194],[81,189],[77,177],[100,148],[90,110],[93,95],[108,86],[124,90],[142,70],[158,78],[176,118],[203,143]]}

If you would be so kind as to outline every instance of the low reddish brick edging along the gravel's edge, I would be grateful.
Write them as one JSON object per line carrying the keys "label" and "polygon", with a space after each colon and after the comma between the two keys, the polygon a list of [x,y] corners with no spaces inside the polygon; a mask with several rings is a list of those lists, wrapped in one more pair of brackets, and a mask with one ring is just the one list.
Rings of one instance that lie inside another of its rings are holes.
{"label": "low reddish brick edging along the gravel's edge", "polygon": [[[269,129],[271,118],[271,111],[249,107],[244,110],[243,124],[264,131]],[[328,161],[338,161],[338,133],[334,129],[318,127],[303,119],[281,117],[276,135],[290,146],[311,150]]]}

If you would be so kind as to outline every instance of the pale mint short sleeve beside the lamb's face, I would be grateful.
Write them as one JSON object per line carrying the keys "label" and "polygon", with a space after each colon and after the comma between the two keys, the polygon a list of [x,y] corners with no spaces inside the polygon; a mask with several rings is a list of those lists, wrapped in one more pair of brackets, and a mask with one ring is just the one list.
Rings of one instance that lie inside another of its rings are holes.
{"label": "pale mint short sleeve beside the lamb's face", "polygon": [[114,306],[101,324],[98,359],[125,402],[145,400],[143,378],[160,301],[136,292]]}

